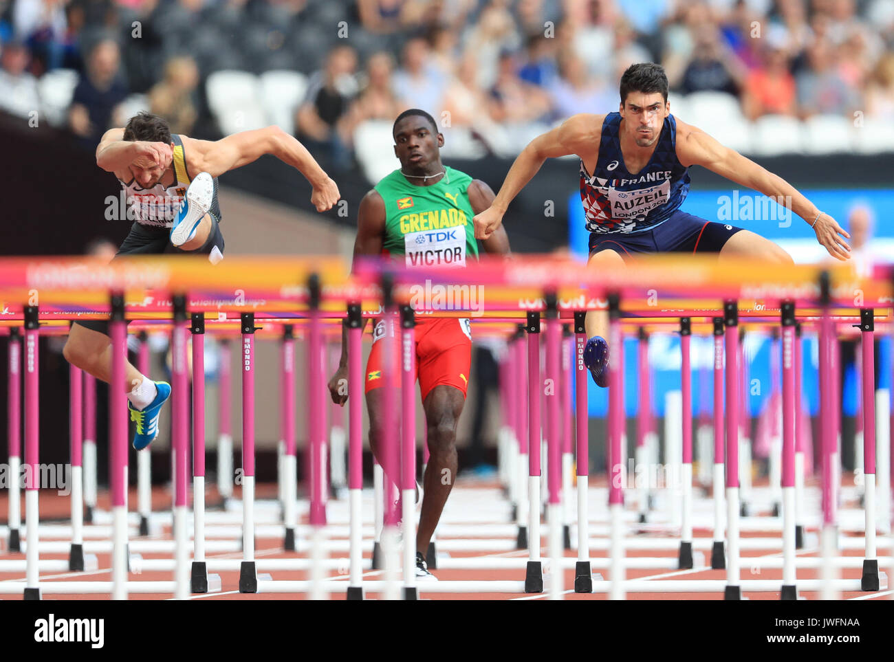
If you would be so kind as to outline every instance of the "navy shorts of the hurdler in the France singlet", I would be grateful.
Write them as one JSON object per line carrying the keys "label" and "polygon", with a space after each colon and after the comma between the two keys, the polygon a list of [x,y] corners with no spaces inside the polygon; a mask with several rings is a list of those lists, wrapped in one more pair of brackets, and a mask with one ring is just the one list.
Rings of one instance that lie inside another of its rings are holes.
{"label": "navy shorts of the hurdler in the France singlet", "polygon": [[742,228],[677,210],[667,221],[642,232],[592,232],[590,255],[608,249],[621,257],[634,253],[719,253],[739,230]]}

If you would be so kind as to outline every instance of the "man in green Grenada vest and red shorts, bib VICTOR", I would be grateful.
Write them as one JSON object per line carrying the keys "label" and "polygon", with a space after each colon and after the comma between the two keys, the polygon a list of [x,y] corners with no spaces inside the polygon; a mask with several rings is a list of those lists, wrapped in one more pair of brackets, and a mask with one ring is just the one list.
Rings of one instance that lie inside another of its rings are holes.
{"label": "man in green Grenada vest and red shorts, bib VICTOR", "polygon": [[[464,266],[477,259],[478,245],[472,218],[493,202],[493,191],[481,180],[445,167],[440,147],[444,138],[431,115],[418,109],[401,113],[394,122],[394,155],[401,162],[360,202],[354,256],[388,255],[407,266]],[[483,240],[488,253],[509,255],[509,239],[499,228]],[[392,335],[396,330],[389,330]],[[378,439],[384,397],[382,345],[385,323],[375,324],[373,348],[365,378],[369,411],[369,444],[381,460]],[[424,496],[416,536],[417,578],[434,579],[426,567],[426,550],[441,517],[457,473],[456,426],[466,401],[472,337],[468,319],[417,316],[416,362],[422,405],[426,411],[431,457],[423,478]],[[348,396],[340,385],[348,378],[347,331],[342,333],[342,360],[329,381],[333,402],[344,405]],[[343,380],[343,381],[342,381]],[[449,473],[444,473],[444,470]]]}

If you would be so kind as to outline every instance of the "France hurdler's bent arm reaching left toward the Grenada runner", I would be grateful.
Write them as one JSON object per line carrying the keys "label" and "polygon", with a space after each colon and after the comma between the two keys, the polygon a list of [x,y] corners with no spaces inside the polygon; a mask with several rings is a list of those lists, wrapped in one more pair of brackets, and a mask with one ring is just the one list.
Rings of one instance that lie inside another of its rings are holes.
{"label": "France hurdler's bent arm reaching left toward the Grenada runner", "polygon": [[[494,230],[500,227],[502,216],[506,213],[510,202],[519,195],[519,191],[531,180],[547,158],[580,154],[587,143],[592,146],[594,127],[601,130],[599,115],[572,115],[560,126],[537,136],[527,144],[503,180],[500,192],[497,193],[485,211],[475,215],[475,238],[487,239]],[[598,142],[596,146],[598,146]]]}

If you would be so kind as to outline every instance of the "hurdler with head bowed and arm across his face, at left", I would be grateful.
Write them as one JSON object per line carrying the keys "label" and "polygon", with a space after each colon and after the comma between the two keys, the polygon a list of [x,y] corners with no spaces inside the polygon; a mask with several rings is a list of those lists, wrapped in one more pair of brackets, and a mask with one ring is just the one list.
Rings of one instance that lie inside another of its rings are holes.
{"label": "hurdler with head bowed and arm across his face, at left", "polygon": [[[105,132],[97,165],[114,172],[125,191],[131,232],[116,255],[193,253],[212,263],[223,259],[217,205],[217,176],[271,154],[288,163],[313,186],[318,212],[339,199],[338,187],[298,140],[276,126],[241,131],[221,140],[171,135],[163,118],[139,113],[123,129]],[[107,322],[76,322],[63,350],[65,358],[97,379],[112,374],[112,343]],[[126,389],[134,448],[145,448],[158,434],[158,413],[171,386],[152,381],[130,363]]]}

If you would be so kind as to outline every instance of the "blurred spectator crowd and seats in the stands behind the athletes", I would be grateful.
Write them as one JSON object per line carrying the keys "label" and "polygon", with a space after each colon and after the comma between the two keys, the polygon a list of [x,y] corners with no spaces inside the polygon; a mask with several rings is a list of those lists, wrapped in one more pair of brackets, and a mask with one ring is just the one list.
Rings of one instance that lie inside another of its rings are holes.
{"label": "blurred spectator crowd and seats in the stands behind the athletes", "polygon": [[511,156],[652,61],[671,113],[746,153],[894,149],[894,0],[0,0],[0,44],[0,109],[85,147],[148,109],[375,177],[404,108],[448,155]]}

